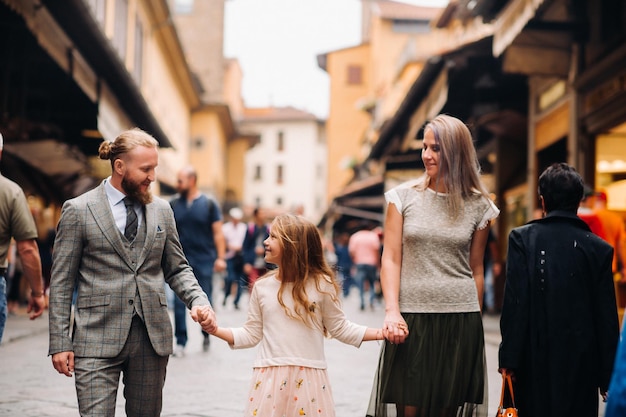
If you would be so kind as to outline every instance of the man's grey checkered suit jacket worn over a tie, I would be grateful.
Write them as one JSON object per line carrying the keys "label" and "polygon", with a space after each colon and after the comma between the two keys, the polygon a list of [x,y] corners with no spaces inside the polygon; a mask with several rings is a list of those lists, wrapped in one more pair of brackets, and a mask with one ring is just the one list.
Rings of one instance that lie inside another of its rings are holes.
{"label": "man's grey checkered suit jacket worn over a tie", "polygon": [[[154,350],[172,353],[173,335],[164,281],[189,307],[209,301],[187,263],[169,203],[145,206],[146,239],[137,262],[113,220],[104,183],[63,205],[54,244],[50,285],[49,354],[79,357],[119,354],[130,331],[137,289]],[[69,336],[74,284],[75,323]]]}

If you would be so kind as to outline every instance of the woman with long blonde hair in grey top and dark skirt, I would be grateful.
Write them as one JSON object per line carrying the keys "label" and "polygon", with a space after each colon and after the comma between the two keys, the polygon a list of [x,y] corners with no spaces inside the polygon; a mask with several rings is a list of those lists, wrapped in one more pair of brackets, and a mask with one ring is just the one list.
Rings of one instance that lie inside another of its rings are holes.
{"label": "woman with long blonde hair in grey top and dark skirt", "polygon": [[368,416],[483,416],[483,256],[499,210],[459,119],[440,115],[426,125],[422,161],[421,178],[385,194],[387,341]]}

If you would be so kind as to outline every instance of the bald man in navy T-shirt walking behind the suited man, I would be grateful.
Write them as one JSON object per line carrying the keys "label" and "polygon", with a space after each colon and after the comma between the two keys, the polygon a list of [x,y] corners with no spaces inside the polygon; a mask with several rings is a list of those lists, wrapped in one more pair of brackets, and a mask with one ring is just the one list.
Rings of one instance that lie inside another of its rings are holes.
{"label": "bald man in navy T-shirt walking behind the suited man", "polygon": [[[226,240],[222,231],[222,213],[217,202],[200,192],[198,174],[191,167],[178,173],[178,197],[170,204],[174,210],[176,228],[185,256],[193,269],[200,287],[209,301],[213,300],[213,270],[226,269]],[[174,298],[174,356],[184,356],[187,344],[187,309],[180,299]],[[209,334],[202,331],[202,350],[209,349]]]}

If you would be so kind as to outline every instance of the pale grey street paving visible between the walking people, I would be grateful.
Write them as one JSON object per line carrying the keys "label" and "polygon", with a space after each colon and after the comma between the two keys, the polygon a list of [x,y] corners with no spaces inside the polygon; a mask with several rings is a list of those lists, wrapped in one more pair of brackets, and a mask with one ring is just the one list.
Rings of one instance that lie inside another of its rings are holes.
{"label": "pale grey street paving visible between the walking people", "polygon": [[[245,320],[245,309],[216,303],[220,325],[238,326]],[[245,305],[247,299],[242,300]],[[368,326],[382,324],[384,310],[359,310],[358,293],[344,299],[347,316]],[[209,352],[202,352],[200,328],[189,319],[186,355],[172,357],[163,393],[163,417],[242,417],[250,383],[255,349],[231,350],[212,338]],[[498,317],[486,316],[485,340],[489,368],[489,415],[495,415],[500,396],[497,373]],[[59,375],[52,368],[48,349],[48,317],[29,321],[24,310],[9,317],[0,345],[0,416],[66,417],[77,416],[73,378]],[[378,362],[380,345],[365,342],[360,349],[336,340],[326,342],[328,373],[338,417],[363,417]],[[118,392],[116,416],[124,416],[122,390]],[[601,414],[602,415],[602,412]]]}

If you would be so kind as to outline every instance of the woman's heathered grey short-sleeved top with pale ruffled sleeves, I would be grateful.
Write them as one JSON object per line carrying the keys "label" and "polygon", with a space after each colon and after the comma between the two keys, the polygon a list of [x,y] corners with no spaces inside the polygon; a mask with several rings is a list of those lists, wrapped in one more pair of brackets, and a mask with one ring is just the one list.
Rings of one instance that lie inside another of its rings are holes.
{"label": "woman's heathered grey short-sleeved top with pale ruffled sleeves", "polygon": [[447,194],[399,186],[385,193],[402,214],[400,311],[462,313],[480,311],[469,264],[474,231],[500,211],[481,194],[466,199],[458,218],[449,216]]}

